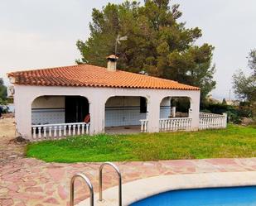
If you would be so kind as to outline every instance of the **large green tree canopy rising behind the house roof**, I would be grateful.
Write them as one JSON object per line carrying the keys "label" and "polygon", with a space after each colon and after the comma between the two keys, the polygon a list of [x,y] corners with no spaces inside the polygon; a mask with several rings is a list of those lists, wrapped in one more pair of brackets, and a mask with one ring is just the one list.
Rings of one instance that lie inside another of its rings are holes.
{"label": "large green tree canopy rising behind the house roof", "polygon": [[87,41],[77,41],[78,64],[105,66],[105,57],[114,54],[118,35],[128,36],[118,45],[118,69],[177,80],[201,88],[201,97],[215,88],[211,64],[214,47],[196,45],[200,28],[186,28],[178,22],[182,13],[171,0],[109,3],[93,9]]}

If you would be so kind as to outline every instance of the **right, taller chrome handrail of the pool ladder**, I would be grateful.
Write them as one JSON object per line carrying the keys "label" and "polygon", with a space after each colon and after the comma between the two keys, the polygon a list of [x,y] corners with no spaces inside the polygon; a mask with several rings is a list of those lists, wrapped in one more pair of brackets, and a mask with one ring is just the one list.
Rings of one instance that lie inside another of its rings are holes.
{"label": "right, taller chrome handrail of the pool ladder", "polygon": [[118,173],[118,205],[122,206],[122,176],[121,172],[118,169],[116,165],[114,165],[112,162],[104,162],[102,165],[99,167],[99,201],[102,201],[102,170],[104,168],[104,165],[110,165],[114,168],[114,170]]}

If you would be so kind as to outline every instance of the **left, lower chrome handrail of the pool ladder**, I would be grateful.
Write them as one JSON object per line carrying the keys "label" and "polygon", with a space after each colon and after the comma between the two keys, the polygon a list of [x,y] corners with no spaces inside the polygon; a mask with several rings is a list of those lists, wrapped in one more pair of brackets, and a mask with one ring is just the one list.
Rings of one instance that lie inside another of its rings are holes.
{"label": "left, lower chrome handrail of the pool ladder", "polygon": [[75,184],[75,179],[77,177],[81,177],[83,180],[85,180],[85,183],[89,187],[89,205],[94,206],[94,187],[93,184],[91,184],[90,180],[82,173],[75,174],[71,178],[70,182],[70,206],[74,206],[74,184]]}

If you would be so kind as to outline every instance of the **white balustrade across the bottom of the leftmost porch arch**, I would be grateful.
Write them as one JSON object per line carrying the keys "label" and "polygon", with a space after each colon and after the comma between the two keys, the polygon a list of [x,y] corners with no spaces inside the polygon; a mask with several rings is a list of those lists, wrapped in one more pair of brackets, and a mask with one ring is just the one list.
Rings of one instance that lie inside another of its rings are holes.
{"label": "white balustrade across the bottom of the leftmost porch arch", "polygon": [[61,139],[67,136],[89,134],[89,123],[63,123],[32,125],[32,141]]}

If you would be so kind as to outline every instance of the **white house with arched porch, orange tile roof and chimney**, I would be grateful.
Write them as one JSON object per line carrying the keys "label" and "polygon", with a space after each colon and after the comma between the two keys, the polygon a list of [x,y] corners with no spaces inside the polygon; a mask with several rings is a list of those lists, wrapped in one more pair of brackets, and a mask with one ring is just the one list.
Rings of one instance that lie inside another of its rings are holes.
{"label": "white house with arched porch, orange tile roof and chimney", "polygon": [[[199,88],[118,70],[116,64],[111,55],[107,68],[74,65],[7,74],[14,87],[17,132],[36,141],[93,135],[108,127],[138,132],[200,128]],[[190,99],[188,117],[175,118],[172,97]]]}

